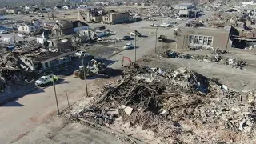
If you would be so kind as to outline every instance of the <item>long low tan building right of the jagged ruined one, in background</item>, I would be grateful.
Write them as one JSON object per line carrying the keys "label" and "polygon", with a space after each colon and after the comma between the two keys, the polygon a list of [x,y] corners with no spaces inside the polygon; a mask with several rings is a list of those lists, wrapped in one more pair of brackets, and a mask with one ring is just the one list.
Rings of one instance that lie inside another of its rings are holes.
{"label": "long low tan building right of the jagged ruined one, in background", "polygon": [[122,22],[128,22],[130,20],[130,14],[124,13],[110,13],[102,17],[102,21],[111,24],[117,24]]}

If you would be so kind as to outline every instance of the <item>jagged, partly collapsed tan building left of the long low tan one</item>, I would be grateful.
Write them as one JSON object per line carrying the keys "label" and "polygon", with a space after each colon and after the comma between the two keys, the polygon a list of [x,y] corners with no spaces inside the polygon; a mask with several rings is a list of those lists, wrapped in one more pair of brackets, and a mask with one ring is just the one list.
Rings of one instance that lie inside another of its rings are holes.
{"label": "jagged, partly collapsed tan building left of the long low tan one", "polygon": [[82,22],[102,22],[102,15],[92,14],[89,10],[79,11],[78,20]]}

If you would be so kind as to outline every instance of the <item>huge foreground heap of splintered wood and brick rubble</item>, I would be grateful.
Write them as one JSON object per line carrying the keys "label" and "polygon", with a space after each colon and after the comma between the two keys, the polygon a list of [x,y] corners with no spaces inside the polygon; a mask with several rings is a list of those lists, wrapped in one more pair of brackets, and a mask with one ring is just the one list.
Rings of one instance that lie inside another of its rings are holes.
{"label": "huge foreground heap of splintered wood and brick rubble", "polygon": [[[255,94],[229,90],[186,68],[147,68],[128,71],[113,85],[102,88],[90,106],[70,119],[111,125],[122,116],[130,126],[152,130],[173,143],[235,142],[239,131],[250,133],[255,123]],[[202,130],[204,134],[198,134]],[[226,130],[234,138],[209,134]],[[193,137],[191,137],[193,136]]]}

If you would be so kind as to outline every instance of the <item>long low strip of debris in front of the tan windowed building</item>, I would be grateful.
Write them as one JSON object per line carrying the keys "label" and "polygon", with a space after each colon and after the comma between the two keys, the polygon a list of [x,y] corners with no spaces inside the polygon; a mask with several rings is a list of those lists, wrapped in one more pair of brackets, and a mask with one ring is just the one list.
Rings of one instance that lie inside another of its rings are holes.
{"label": "long low strip of debris in front of the tan windowed building", "polygon": [[[221,51],[225,53],[225,51]],[[230,65],[235,68],[242,69],[243,67],[247,66],[247,63],[242,59],[236,58],[224,58],[220,55],[210,56],[210,55],[190,55],[190,54],[182,54],[172,50],[166,50],[165,52],[160,54],[162,58],[186,58],[186,59],[194,59],[197,61],[203,62],[215,62],[222,65]]]}

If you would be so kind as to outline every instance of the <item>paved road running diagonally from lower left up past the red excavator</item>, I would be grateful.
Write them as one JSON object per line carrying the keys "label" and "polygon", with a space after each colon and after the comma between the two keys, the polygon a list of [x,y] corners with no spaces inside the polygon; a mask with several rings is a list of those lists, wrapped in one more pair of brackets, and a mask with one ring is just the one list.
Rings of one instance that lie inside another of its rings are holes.
{"label": "paved road running diagonally from lower left up past the red excavator", "polygon": [[[138,29],[135,24],[130,26],[130,30]],[[178,25],[181,26],[181,25]],[[117,26],[122,28],[121,26]],[[145,29],[142,29],[145,30]],[[148,29],[149,31],[152,29]],[[152,30],[154,31],[154,29]],[[158,34],[172,35],[170,30],[158,30]],[[142,58],[144,54],[149,54],[154,50],[155,36],[149,35],[147,38],[138,39],[137,58]],[[158,46],[162,44],[158,42]],[[110,58],[115,63],[110,67],[119,68],[122,56],[129,56],[134,60],[134,50],[124,50]],[[89,87],[97,87],[97,80],[88,80]],[[60,109],[67,107],[66,94],[69,95],[70,103],[77,102],[78,99],[85,95],[84,81],[78,78],[68,76],[65,80],[56,86],[58,102]],[[10,143],[15,139],[22,138],[23,134],[33,130],[34,127],[49,118],[50,115],[56,114],[56,105],[54,99],[53,86],[46,87],[42,90],[34,90],[26,94],[15,102],[9,102],[0,107],[0,142]]]}

